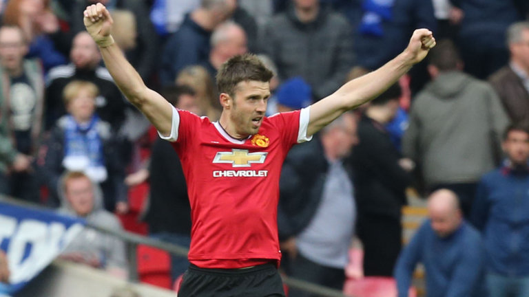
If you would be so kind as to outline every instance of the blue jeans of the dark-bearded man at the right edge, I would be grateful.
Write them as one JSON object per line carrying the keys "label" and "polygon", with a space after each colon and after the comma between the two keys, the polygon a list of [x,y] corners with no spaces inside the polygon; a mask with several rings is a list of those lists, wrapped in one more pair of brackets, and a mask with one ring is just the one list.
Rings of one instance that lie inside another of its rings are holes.
{"label": "blue jeans of the dark-bearded man at the right edge", "polygon": [[487,274],[490,297],[529,297],[529,276],[501,276]]}

